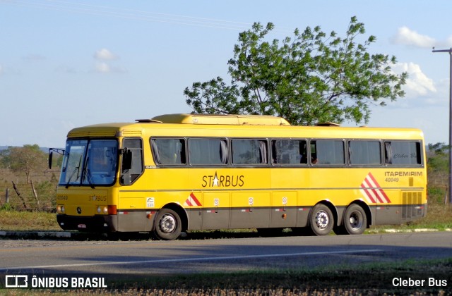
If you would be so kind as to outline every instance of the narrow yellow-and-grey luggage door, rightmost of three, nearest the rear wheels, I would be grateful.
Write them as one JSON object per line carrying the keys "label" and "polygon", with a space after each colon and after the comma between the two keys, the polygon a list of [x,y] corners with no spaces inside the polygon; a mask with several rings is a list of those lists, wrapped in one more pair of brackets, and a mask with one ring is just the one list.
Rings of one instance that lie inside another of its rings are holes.
{"label": "narrow yellow-and-grey luggage door, rightmost of three, nearest the rear wheels", "polygon": [[270,227],[297,225],[297,192],[277,191],[271,194]]}

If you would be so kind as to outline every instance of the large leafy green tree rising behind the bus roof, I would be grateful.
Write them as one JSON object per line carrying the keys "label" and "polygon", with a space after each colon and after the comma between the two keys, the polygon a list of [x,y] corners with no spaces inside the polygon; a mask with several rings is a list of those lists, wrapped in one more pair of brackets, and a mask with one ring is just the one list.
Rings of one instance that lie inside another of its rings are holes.
{"label": "large leafy green tree rising behind the bus roof", "polygon": [[295,125],[316,122],[367,123],[369,106],[403,97],[407,73],[396,75],[396,57],[369,54],[370,36],[362,43],[364,24],[352,17],[345,37],[319,26],[295,30],[283,42],[265,37],[273,23],[254,23],[239,34],[228,61],[231,84],[220,78],[186,87],[186,104],[194,113],[242,113],[281,116]]}

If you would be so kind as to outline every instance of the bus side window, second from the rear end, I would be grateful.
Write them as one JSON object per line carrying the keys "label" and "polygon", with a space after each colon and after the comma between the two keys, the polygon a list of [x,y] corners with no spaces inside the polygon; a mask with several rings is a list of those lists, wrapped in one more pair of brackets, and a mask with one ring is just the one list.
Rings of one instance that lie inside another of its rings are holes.
{"label": "bus side window, second from the rear end", "polygon": [[349,141],[348,158],[351,165],[380,165],[380,142],[367,140]]}

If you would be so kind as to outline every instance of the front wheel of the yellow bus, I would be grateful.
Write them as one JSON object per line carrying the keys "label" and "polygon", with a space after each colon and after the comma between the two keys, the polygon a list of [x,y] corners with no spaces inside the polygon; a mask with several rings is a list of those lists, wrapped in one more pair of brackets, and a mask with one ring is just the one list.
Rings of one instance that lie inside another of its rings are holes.
{"label": "front wheel of the yellow bus", "polygon": [[159,240],[175,240],[182,232],[179,215],[172,209],[161,209],[155,218],[154,234]]}

